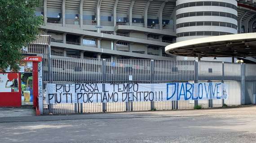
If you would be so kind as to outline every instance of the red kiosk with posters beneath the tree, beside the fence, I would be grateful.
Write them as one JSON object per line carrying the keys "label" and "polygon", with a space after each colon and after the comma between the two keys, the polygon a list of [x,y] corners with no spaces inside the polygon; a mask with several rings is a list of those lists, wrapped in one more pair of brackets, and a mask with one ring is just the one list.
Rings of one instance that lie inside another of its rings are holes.
{"label": "red kiosk with posters beneath the tree, beside the fence", "polygon": [[31,105],[38,111],[41,62],[42,57],[25,56],[19,72],[0,72],[0,107]]}

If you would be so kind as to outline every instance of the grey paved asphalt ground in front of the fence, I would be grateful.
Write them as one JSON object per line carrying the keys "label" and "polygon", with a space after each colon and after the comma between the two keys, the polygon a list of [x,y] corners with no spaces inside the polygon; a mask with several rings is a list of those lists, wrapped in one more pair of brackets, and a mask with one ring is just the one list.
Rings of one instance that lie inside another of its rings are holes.
{"label": "grey paved asphalt ground in front of the fence", "polygon": [[255,143],[256,106],[0,118],[0,143]]}

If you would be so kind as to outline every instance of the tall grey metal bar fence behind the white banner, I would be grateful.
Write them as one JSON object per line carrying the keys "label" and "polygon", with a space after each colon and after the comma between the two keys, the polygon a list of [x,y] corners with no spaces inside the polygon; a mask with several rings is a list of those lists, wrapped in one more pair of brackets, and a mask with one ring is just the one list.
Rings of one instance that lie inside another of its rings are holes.
{"label": "tall grey metal bar fence behind the white banner", "polygon": [[[226,100],[148,101],[48,105],[44,114],[98,113],[143,110],[193,109],[252,104],[256,93],[256,65],[207,61],[147,59],[61,59],[44,55],[43,83],[225,83]],[[132,80],[129,79],[132,76]],[[45,91],[45,90],[44,90]],[[255,99],[254,99],[255,100]]]}

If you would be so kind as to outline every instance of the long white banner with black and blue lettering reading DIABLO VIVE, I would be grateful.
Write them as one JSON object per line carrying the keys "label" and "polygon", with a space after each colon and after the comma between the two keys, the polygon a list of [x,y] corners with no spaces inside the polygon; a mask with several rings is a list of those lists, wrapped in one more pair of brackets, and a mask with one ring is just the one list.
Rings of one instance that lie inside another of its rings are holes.
{"label": "long white banner with black and blue lettering reading DIABLO VIVE", "polygon": [[106,103],[226,99],[226,84],[47,84],[46,102]]}

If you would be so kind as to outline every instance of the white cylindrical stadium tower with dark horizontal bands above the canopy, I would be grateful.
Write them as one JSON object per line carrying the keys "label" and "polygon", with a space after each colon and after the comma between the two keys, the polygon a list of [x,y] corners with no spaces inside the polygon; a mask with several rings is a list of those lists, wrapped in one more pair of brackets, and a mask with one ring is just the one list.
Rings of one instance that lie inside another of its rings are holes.
{"label": "white cylindrical stadium tower with dark horizontal bands above the canopy", "polygon": [[237,34],[236,0],[177,0],[177,42]]}

